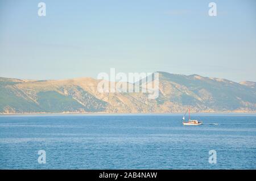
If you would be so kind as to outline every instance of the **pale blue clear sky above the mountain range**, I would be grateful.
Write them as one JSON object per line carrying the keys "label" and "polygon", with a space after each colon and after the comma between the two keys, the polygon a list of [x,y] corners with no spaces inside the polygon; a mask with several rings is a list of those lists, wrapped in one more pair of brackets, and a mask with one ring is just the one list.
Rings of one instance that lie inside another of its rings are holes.
{"label": "pale blue clear sky above the mountain range", "polygon": [[0,77],[97,78],[110,68],[256,81],[256,1],[0,0]]}

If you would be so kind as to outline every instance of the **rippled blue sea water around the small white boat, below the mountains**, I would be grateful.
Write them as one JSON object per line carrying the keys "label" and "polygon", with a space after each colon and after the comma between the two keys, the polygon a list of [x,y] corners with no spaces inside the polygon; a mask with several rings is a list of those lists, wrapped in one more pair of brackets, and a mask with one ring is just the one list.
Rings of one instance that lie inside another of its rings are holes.
{"label": "rippled blue sea water around the small white boat, below the mountains", "polygon": [[256,115],[182,116],[2,115],[0,169],[256,169]]}

